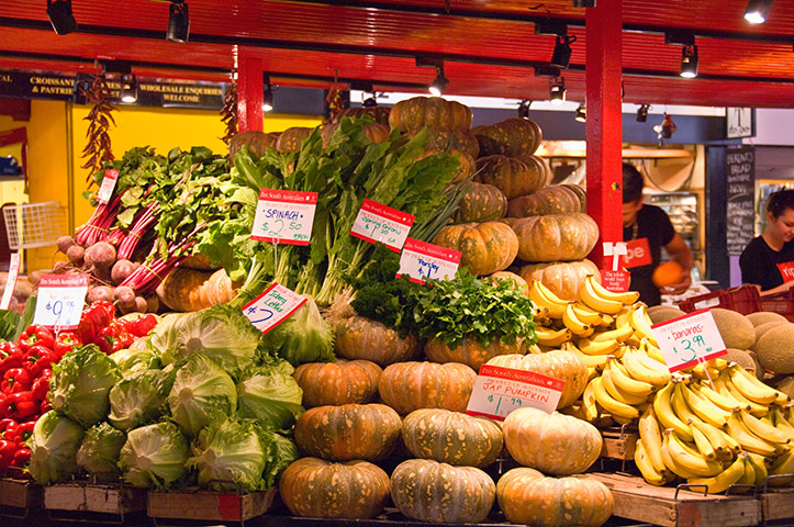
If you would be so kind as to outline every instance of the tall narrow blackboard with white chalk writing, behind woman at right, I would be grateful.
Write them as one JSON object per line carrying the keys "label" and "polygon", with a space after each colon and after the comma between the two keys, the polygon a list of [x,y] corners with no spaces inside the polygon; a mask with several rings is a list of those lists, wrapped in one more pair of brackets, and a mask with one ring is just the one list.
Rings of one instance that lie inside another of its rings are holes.
{"label": "tall narrow blackboard with white chalk writing, behind woman at right", "polygon": [[729,255],[740,255],[756,237],[756,148],[729,148],[725,161],[728,198],[727,245]]}

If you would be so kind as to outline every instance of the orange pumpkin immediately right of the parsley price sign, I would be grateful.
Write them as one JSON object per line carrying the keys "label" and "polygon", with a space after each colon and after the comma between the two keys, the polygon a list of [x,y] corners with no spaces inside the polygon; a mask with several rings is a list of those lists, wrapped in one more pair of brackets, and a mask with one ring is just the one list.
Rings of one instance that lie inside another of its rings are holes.
{"label": "orange pumpkin immediately right of the parsley price sign", "polygon": [[500,222],[447,225],[433,243],[462,253],[460,265],[478,276],[507,269],[518,254],[518,237]]}

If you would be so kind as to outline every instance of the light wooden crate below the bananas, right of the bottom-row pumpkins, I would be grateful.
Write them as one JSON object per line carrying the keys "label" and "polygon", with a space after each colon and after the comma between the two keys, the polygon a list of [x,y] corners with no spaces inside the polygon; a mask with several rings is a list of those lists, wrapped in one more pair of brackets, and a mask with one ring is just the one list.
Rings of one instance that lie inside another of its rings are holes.
{"label": "light wooden crate below the bananas, right of the bottom-row pumpkins", "polygon": [[635,522],[662,527],[745,527],[761,523],[761,502],[753,496],[724,496],[653,486],[642,478],[599,473],[592,474],[612,490],[615,508],[612,514]]}

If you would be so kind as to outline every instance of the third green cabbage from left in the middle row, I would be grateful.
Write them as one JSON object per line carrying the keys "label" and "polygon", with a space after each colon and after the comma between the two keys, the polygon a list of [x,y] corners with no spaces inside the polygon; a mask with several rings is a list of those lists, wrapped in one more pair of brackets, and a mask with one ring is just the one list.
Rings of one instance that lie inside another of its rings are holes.
{"label": "third green cabbage from left in the middle row", "polygon": [[184,433],[195,437],[214,418],[234,415],[237,390],[221,367],[202,354],[192,354],[177,370],[168,407]]}

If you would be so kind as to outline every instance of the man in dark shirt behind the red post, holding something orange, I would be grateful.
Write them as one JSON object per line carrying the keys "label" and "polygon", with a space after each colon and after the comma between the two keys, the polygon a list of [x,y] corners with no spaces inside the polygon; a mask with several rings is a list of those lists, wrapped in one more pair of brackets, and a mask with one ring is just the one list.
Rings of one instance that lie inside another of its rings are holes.
{"label": "man in dark shirt behind the red post, holding something orange", "polygon": [[[673,228],[667,213],[655,205],[642,203],[645,181],[631,165],[623,164],[623,240],[628,255],[624,267],[631,274],[629,289],[639,292],[639,300],[650,305],[661,303],[662,292],[680,294],[692,283],[690,271],[694,257],[686,242]],[[657,288],[651,277],[661,262],[661,249],[671,260],[681,265],[681,279],[666,288]]]}

